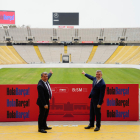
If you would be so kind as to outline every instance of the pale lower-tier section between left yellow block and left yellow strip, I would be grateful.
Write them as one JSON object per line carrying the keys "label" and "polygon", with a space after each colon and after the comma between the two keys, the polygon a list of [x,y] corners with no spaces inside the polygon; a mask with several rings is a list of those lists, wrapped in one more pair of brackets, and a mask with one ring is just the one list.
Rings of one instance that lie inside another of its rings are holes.
{"label": "pale lower-tier section between left yellow block and left yellow strip", "polygon": [[14,48],[27,63],[41,63],[32,45],[14,45]]}

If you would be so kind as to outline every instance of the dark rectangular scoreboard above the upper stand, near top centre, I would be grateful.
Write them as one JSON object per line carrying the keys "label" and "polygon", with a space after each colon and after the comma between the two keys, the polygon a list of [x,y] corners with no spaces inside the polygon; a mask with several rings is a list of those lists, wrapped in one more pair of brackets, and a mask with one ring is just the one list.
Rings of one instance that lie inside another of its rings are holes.
{"label": "dark rectangular scoreboard above the upper stand, near top centre", "polygon": [[53,13],[53,25],[79,25],[79,13]]}

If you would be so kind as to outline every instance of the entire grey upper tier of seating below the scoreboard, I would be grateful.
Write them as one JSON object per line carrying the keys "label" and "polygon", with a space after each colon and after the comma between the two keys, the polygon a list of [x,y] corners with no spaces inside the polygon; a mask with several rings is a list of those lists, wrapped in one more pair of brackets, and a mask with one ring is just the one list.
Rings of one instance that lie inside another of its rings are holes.
{"label": "entire grey upper tier of seating below the scoreboard", "polygon": [[[6,32],[8,34],[6,34]],[[15,43],[27,43],[27,38],[33,37],[34,42],[46,41],[53,42],[53,38],[58,42],[72,42],[76,37],[79,42],[90,41],[98,43],[99,38],[104,43],[119,43],[120,38],[126,39],[127,43],[140,43],[140,28],[78,28],[78,29],[60,29],[60,28],[9,28],[0,29],[0,42],[5,41],[5,36],[12,37]]]}

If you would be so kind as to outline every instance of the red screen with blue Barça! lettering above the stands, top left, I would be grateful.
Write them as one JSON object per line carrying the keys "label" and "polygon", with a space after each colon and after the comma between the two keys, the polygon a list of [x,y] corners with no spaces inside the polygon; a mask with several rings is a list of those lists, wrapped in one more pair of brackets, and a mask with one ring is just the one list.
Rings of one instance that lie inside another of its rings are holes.
{"label": "red screen with blue Bar\u00e7a! lettering above the stands, top left", "polygon": [[15,11],[0,11],[0,24],[15,24]]}

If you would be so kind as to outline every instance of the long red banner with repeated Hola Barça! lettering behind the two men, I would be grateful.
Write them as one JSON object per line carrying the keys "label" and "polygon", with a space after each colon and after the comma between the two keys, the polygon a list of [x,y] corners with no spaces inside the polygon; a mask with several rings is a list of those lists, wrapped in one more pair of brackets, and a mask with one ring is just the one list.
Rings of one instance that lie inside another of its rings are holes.
{"label": "long red banner with repeated Hola Bar\u00e7a! lettering behind the two men", "polygon": [[[49,121],[88,121],[91,84],[51,84]],[[37,85],[0,85],[0,121],[37,121]],[[107,84],[102,121],[139,120],[139,85]]]}

